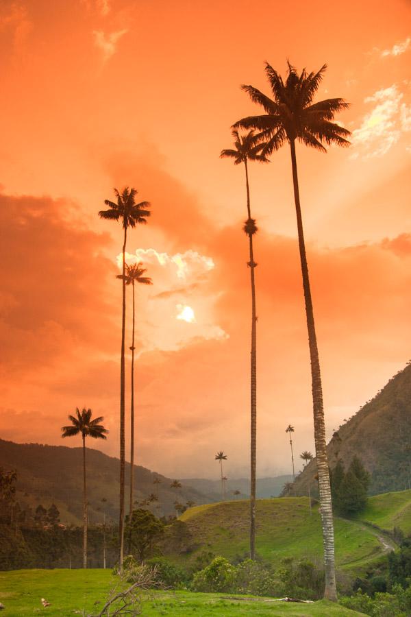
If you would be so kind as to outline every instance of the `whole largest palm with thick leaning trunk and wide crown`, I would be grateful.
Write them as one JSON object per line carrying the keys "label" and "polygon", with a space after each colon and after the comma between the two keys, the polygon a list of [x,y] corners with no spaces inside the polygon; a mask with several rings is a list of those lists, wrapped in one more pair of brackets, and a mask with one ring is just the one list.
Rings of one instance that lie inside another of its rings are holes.
{"label": "whole largest palm with thick leaning trunk and wide crown", "polygon": [[327,66],[324,64],[319,71],[312,73],[307,73],[306,69],[303,69],[299,75],[294,66],[288,62],[288,75],[284,82],[279,73],[277,73],[270,64],[266,63],[265,71],[271,86],[273,98],[264,95],[253,86],[243,85],[243,90],[249,93],[251,99],[255,103],[262,106],[265,113],[258,116],[243,118],[234,124],[234,128],[244,128],[247,130],[251,128],[258,130],[259,133],[256,135],[256,143],[265,143],[260,153],[263,156],[271,154],[284,145],[284,143],[290,145],[299,253],[304,299],[306,303],[308,343],[310,347],[314,440],[319,470],[321,522],[324,539],[324,595],[325,598],[336,601],[334,524],[332,520],[332,500],[329,487],[329,469],[325,442],[323,391],[321,385],[319,352],[314,326],[310,278],[308,276],[306,247],[304,243],[303,221],[301,217],[297,158],[295,154],[296,140],[320,152],[326,152],[324,143],[326,145],[349,145],[349,141],[347,140],[350,135],[349,130],[332,122],[336,112],[348,107],[344,99],[325,99],[317,103],[312,102],[316,90],[318,90],[321,84],[323,73],[326,68]]}

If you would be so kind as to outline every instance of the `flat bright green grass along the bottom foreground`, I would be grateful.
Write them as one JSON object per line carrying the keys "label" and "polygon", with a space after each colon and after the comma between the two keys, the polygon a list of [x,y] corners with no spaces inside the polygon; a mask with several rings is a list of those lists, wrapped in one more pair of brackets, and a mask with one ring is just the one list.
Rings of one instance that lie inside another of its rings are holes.
{"label": "flat bright green grass along the bottom foreground", "polygon": [[[0,572],[0,601],[6,616],[46,614],[68,617],[73,614],[98,614],[114,583],[111,570],[16,570]],[[51,606],[44,608],[41,598]],[[192,592],[153,592],[143,605],[143,616],[198,615],[199,617],[236,615],[289,617],[355,617],[350,611],[325,601],[310,605],[243,601],[228,594],[195,594]]]}

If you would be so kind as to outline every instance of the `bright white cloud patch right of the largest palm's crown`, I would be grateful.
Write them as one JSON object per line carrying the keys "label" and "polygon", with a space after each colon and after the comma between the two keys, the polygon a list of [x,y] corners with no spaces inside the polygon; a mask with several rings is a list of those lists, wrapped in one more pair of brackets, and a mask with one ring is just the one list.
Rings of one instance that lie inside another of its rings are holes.
{"label": "bright white cloud patch right of the largest palm's crown", "polygon": [[374,103],[371,112],[362,119],[360,128],[353,130],[351,142],[355,152],[351,158],[384,156],[403,132],[411,129],[411,110],[396,84],[377,90],[364,103]]}

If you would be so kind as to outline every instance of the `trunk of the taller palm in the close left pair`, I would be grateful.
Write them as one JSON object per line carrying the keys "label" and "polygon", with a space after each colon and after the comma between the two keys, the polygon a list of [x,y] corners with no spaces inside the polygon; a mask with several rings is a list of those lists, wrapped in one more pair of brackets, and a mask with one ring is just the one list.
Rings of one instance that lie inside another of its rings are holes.
{"label": "trunk of the taller palm in the close left pair", "polygon": [[123,571],[124,556],[124,488],[125,488],[125,244],[127,227],[124,228],[123,242],[123,311],[121,321],[121,368],[120,368],[120,504],[119,504],[119,570]]}

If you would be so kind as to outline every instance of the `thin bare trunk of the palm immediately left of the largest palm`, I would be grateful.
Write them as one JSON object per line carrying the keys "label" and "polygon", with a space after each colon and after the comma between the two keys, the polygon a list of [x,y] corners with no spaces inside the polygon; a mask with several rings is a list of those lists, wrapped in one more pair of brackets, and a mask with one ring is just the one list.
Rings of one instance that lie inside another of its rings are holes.
{"label": "thin bare trunk of the palm immediately left of the largest palm", "polygon": [[[251,219],[250,189],[245,159],[247,213]],[[256,281],[254,278],[253,234],[249,234],[249,268],[251,274],[251,461],[250,461],[250,559],[256,556],[256,458],[257,458],[257,315]]]}

